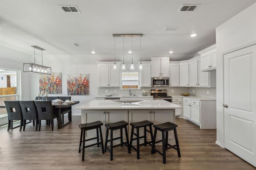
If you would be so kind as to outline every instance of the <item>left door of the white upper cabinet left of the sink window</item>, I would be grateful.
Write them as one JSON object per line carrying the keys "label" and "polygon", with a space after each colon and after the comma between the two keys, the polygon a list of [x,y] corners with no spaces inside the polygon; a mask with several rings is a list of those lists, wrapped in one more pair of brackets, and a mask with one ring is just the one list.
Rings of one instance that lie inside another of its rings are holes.
{"label": "left door of the white upper cabinet left of the sink window", "polygon": [[109,87],[108,64],[98,64],[98,85],[99,87]]}

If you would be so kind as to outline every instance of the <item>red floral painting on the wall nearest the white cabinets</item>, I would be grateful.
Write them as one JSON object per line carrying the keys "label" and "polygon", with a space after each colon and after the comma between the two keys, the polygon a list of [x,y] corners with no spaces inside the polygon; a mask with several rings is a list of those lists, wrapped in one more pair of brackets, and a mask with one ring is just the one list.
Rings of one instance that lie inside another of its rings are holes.
{"label": "red floral painting on the wall nearest the white cabinets", "polygon": [[89,95],[89,74],[68,74],[68,95]]}

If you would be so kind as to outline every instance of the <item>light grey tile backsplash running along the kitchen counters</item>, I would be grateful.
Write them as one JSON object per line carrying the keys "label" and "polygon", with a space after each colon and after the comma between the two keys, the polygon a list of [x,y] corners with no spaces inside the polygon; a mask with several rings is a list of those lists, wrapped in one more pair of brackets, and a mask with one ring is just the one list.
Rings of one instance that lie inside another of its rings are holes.
{"label": "light grey tile backsplash running along the kitchen counters", "polygon": [[[141,95],[142,91],[145,90],[150,95],[150,89],[167,89],[168,95],[179,95],[181,93],[190,93],[191,95],[200,96],[200,97],[209,97],[209,98],[216,98],[216,88],[201,88],[201,87],[141,87],[141,89],[134,90],[131,89],[132,94],[134,95]],[[111,90],[111,94],[115,95],[129,95],[128,90],[122,90],[121,88],[117,87],[99,87],[98,88],[98,95],[105,96],[106,90]],[[116,93],[115,93],[116,90]],[[172,90],[174,92],[172,92]],[[194,90],[194,93],[193,93]],[[209,94],[207,94],[207,90]]]}

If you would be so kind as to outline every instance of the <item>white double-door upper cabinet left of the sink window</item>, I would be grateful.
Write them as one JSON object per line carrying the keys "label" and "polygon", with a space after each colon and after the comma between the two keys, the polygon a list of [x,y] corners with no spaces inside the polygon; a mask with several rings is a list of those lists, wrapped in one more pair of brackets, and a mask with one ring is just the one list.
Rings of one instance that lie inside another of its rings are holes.
{"label": "white double-door upper cabinet left of the sink window", "polygon": [[[116,62],[117,70],[113,70],[112,62],[98,63],[98,86],[120,87],[120,63]],[[111,64],[109,64],[111,63]]]}

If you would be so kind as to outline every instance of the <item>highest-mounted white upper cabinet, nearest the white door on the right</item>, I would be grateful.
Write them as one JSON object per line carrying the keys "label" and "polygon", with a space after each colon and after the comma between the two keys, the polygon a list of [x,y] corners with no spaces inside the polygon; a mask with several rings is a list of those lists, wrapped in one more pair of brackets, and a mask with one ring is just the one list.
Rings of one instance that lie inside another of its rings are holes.
{"label": "highest-mounted white upper cabinet, nearest the white door on the right", "polygon": [[197,53],[201,56],[201,71],[216,69],[216,44]]}

